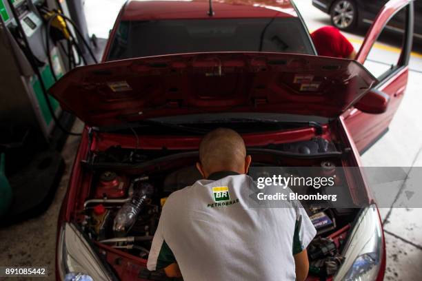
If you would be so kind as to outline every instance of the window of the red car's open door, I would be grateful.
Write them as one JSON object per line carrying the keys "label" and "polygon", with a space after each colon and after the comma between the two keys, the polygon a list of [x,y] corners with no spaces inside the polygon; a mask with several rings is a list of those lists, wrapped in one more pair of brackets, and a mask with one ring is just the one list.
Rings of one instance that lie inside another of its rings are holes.
{"label": "window of the red car's open door", "polygon": [[405,46],[406,8],[403,8],[388,21],[372,46],[363,65],[379,80],[400,67],[400,57]]}

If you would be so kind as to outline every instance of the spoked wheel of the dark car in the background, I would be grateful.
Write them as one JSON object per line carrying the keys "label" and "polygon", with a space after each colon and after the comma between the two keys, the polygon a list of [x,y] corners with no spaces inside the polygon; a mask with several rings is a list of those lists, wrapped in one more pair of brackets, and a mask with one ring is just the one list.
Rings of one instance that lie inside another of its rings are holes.
{"label": "spoked wheel of the dark car in the background", "polygon": [[339,30],[352,30],[356,27],[357,8],[352,0],[337,0],[331,7],[331,23]]}

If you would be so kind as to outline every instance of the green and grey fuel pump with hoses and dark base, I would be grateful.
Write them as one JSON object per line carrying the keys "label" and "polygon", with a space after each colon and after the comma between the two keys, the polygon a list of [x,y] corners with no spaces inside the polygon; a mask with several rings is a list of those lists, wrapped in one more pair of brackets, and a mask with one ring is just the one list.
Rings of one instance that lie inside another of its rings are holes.
{"label": "green and grey fuel pump with hoses and dark base", "polygon": [[[67,10],[66,1],[60,2]],[[3,203],[11,207],[1,222],[49,205],[63,170],[59,144],[75,133],[70,132],[74,117],[47,90],[72,67],[87,63],[81,44],[96,62],[57,3],[0,0],[0,154],[6,154],[13,193],[13,202]]]}

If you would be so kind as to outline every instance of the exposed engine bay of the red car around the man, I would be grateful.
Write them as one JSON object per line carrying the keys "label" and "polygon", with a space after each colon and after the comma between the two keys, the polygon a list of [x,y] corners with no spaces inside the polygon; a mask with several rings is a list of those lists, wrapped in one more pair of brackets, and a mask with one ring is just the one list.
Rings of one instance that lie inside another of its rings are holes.
{"label": "exposed engine bay of the red car around the man", "polygon": [[[274,149],[286,156],[274,156],[271,153]],[[110,147],[92,155],[94,168],[86,169],[90,174],[89,195],[77,216],[78,225],[90,240],[148,259],[166,198],[202,178],[194,166],[195,152],[160,153],[163,155],[157,156],[157,152],[142,149],[133,152],[132,149]],[[322,138],[270,149],[266,147],[262,151],[250,149],[248,153],[252,154],[255,167],[292,167],[292,174],[295,173],[294,167],[299,165],[342,165],[340,149]],[[179,160],[174,160],[178,155],[181,156]],[[312,157],[301,158],[303,155]],[[308,247],[310,280],[328,278],[336,273],[344,260],[341,249],[359,209],[303,206],[317,230]],[[110,263],[110,259],[107,260]],[[110,265],[116,269],[114,262]],[[139,276],[147,280],[168,280],[163,272],[151,273],[147,269],[142,272]]]}

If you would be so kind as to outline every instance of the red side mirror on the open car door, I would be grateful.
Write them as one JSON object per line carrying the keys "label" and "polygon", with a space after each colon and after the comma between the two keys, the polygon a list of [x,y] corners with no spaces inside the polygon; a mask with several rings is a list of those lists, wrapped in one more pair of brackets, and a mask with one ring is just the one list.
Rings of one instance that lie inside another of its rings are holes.
{"label": "red side mirror on the open car door", "polygon": [[367,92],[354,107],[361,112],[370,114],[381,114],[387,111],[390,96],[380,90],[371,89]]}

